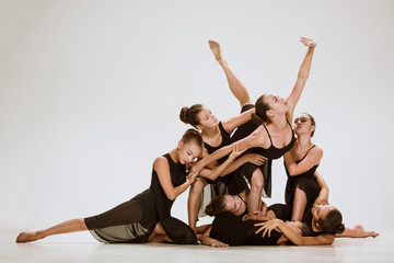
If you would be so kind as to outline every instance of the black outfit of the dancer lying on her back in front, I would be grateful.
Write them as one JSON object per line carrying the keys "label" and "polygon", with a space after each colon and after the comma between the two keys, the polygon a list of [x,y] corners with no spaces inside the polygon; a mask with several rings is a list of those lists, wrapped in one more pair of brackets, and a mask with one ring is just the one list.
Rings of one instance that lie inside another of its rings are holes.
{"label": "black outfit of the dancer lying on her back in front", "polygon": [[258,227],[254,226],[256,222],[259,221],[242,221],[240,217],[224,211],[215,217],[209,237],[229,245],[277,244],[281,233],[273,230],[270,237],[262,237],[262,233],[255,233],[258,229]]}

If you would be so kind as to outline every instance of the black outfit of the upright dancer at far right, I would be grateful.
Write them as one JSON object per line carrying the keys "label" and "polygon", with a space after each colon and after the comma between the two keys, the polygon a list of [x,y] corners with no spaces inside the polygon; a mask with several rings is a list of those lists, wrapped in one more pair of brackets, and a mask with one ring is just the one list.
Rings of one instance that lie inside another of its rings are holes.
{"label": "black outfit of the upright dancer at far right", "polygon": [[[296,163],[298,164],[301,161],[303,161],[308,156],[308,153],[310,152],[310,150],[312,150],[314,147],[315,145],[312,146],[300,160],[296,161]],[[292,205],[294,199],[296,188],[298,187],[306,194],[306,208],[313,205],[321,191],[321,187],[318,186],[317,181],[314,178],[314,173],[317,167],[318,164],[315,164],[306,172],[291,176],[285,164],[286,173],[288,176],[286,190],[285,190],[286,204]]]}

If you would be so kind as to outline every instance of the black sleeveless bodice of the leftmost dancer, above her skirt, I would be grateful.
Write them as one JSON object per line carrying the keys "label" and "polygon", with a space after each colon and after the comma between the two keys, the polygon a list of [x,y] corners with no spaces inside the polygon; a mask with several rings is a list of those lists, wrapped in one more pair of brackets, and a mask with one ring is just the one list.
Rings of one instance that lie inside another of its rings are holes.
{"label": "black sleeveless bodice of the leftmost dancer, above her skirt", "polygon": [[[174,187],[185,183],[186,165],[182,164],[181,162],[175,163],[174,160],[171,158],[170,153],[165,153],[163,157],[165,157],[165,159],[169,162],[171,182],[174,185]],[[152,180],[151,180],[150,190],[152,191],[154,196],[154,203],[157,206],[158,216],[159,217],[169,216],[174,201],[169,199],[166,197],[165,192],[160,184],[159,176],[154,168],[152,170]]]}

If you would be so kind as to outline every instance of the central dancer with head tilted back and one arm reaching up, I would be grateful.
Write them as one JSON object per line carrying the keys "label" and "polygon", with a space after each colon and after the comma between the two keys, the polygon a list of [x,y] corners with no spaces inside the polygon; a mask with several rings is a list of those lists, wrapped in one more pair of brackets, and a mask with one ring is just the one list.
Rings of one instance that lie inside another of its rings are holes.
{"label": "central dancer with head tilted back and one arm reaching up", "polygon": [[[316,46],[313,39],[301,37],[300,41],[308,47],[308,52],[290,95],[286,100],[274,94],[263,94],[258,98],[255,103],[253,118],[259,126],[253,134],[204,158],[195,167],[196,170],[201,170],[208,163],[229,155],[235,144],[240,145],[241,150],[254,148],[255,152],[267,157],[269,163],[271,159],[280,158],[292,148],[296,137],[290,122],[297,102],[305,87]],[[259,176],[250,179],[250,182],[251,193],[247,195],[247,210],[250,214],[254,214],[258,211],[263,185],[267,184],[267,182],[264,182],[262,173]]]}

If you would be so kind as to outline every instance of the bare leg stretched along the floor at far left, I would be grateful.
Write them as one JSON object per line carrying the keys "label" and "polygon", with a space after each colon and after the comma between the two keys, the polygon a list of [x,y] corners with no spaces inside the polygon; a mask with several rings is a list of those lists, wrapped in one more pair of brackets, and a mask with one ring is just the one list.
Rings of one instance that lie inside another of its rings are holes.
{"label": "bare leg stretched along the floor at far left", "polygon": [[21,232],[18,236],[15,242],[24,243],[30,241],[36,241],[38,239],[43,239],[53,235],[77,232],[83,230],[88,230],[88,227],[83,218],[71,219],[68,221],[60,222],[59,225],[47,228],[45,230],[38,230],[33,232]]}

